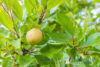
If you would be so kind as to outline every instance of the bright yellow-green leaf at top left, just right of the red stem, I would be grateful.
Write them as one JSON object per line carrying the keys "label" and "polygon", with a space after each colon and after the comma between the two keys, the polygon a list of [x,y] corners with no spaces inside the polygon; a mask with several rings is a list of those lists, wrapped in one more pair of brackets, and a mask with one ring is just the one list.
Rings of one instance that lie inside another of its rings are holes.
{"label": "bright yellow-green leaf at top left, just right of the red stem", "polygon": [[22,21],[23,10],[18,0],[4,0],[4,4],[8,10],[12,10],[15,16]]}

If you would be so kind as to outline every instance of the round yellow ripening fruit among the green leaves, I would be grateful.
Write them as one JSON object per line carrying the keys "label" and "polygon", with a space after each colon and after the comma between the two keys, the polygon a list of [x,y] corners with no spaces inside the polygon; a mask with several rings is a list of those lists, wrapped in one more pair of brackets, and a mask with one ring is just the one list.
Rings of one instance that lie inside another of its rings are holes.
{"label": "round yellow ripening fruit among the green leaves", "polygon": [[26,34],[27,42],[34,45],[42,40],[42,32],[38,28],[33,28]]}

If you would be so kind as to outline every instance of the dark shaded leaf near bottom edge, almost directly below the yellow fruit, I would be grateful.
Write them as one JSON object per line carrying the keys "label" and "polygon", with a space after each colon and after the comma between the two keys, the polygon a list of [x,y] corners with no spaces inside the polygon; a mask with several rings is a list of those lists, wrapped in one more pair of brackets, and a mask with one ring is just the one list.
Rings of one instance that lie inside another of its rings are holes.
{"label": "dark shaded leaf near bottom edge, almost directly below the yellow fruit", "polygon": [[37,59],[38,63],[42,64],[42,65],[54,64],[53,59],[50,59],[50,58],[43,56],[43,55],[35,55],[35,58]]}

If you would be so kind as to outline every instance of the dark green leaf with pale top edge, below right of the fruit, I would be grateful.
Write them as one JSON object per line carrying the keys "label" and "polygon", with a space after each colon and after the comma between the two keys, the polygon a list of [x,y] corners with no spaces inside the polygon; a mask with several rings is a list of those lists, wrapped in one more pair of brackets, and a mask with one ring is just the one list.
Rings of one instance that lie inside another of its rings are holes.
{"label": "dark green leaf with pale top edge, below right of the fruit", "polygon": [[55,54],[61,52],[64,49],[64,45],[61,43],[50,43],[43,47],[40,52],[48,57],[53,57]]}

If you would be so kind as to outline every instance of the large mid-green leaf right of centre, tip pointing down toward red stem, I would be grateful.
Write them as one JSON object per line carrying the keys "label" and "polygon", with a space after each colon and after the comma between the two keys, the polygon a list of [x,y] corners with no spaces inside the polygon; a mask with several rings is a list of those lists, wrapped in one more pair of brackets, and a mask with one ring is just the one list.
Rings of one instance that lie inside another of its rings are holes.
{"label": "large mid-green leaf right of centre, tip pointing down toward red stem", "polygon": [[67,17],[64,13],[57,13],[57,22],[62,26],[63,29],[73,35],[73,22],[72,19]]}

